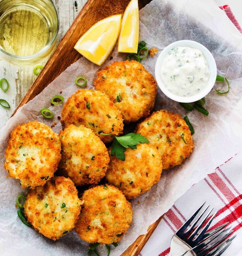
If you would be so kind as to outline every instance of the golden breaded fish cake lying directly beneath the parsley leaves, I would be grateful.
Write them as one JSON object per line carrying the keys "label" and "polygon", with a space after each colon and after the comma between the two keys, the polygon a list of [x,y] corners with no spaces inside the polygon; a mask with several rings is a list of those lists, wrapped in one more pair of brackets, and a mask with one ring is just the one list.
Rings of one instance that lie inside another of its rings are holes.
{"label": "golden breaded fish cake lying directly beneath the parsley leaves", "polygon": [[124,152],[125,161],[110,155],[105,176],[108,183],[119,188],[128,199],[148,191],[160,180],[162,171],[161,156],[154,145],[142,143],[136,147]]}

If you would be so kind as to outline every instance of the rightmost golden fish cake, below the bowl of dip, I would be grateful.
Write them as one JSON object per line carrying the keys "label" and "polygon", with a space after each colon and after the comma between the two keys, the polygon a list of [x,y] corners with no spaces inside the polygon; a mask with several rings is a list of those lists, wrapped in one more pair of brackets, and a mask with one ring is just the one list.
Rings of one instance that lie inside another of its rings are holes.
{"label": "rightmost golden fish cake, below the bowl of dip", "polygon": [[136,132],[157,147],[164,170],[182,164],[194,148],[186,122],[167,110],[152,113],[137,125]]}

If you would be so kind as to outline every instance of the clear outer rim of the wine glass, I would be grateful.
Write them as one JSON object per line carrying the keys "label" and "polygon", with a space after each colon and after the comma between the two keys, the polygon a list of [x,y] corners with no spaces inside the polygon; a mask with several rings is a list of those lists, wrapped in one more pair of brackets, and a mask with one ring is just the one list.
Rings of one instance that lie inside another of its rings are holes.
{"label": "clear outer rim of the wine glass", "polygon": [[55,35],[54,37],[52,38],[51,42],[46,45],[41,51],[35,53],[35,54],[32,54],[32,55],[27,55],[27,56],[18,56],[18,55],[15,55],[15,54],[11,54],[9,52],[6,52],[1,46],[0,46],[0,52],[7,55],[8,57],[10,58],[13,58],[13,59],[17,59],[17,60],[22,60],[22,61],[28,61],[28,60],[31,60],[31,59],[36,59],[38,58],[39,56],[43,55],[49,48],[52,47],[52,45],[55,43],[56,41],[56,38],[59,34],[59,26],[60,26],[60,21],[59,21],[59,14],[58,14],[58,11],[55,7],[55,4],[53,2],[53,0],[49,0],[50,4],[53,6],[54,8],[54,11],[55,11],[55,14],[56,14],[56,18],[57,18],[57,26],[56,26],[56,32],[55,32]]}

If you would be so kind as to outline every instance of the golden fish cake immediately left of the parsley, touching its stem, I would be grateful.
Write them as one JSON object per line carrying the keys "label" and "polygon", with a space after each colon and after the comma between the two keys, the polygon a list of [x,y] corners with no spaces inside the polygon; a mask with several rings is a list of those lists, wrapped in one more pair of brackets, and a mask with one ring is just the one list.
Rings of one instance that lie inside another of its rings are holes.
{"label": "golden fish cake immediately left of the parsley, touching its stem", "polygon": [[62,143],[60,167],[75,185],[96,184],[109,164],[108,150],[91,129],[69,125],[59,133]]}

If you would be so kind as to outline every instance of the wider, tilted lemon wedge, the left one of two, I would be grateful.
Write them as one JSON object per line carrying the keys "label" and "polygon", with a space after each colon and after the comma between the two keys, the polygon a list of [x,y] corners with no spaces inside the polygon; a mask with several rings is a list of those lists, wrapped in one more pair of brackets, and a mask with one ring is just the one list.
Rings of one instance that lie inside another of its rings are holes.
{"label": "wider, tilted lemon wedge, the left one of two", "polygon": [[121,14],[102,19],[81,36],[74,46],[91,62],[101,65],[113,50],[121,27]]}

